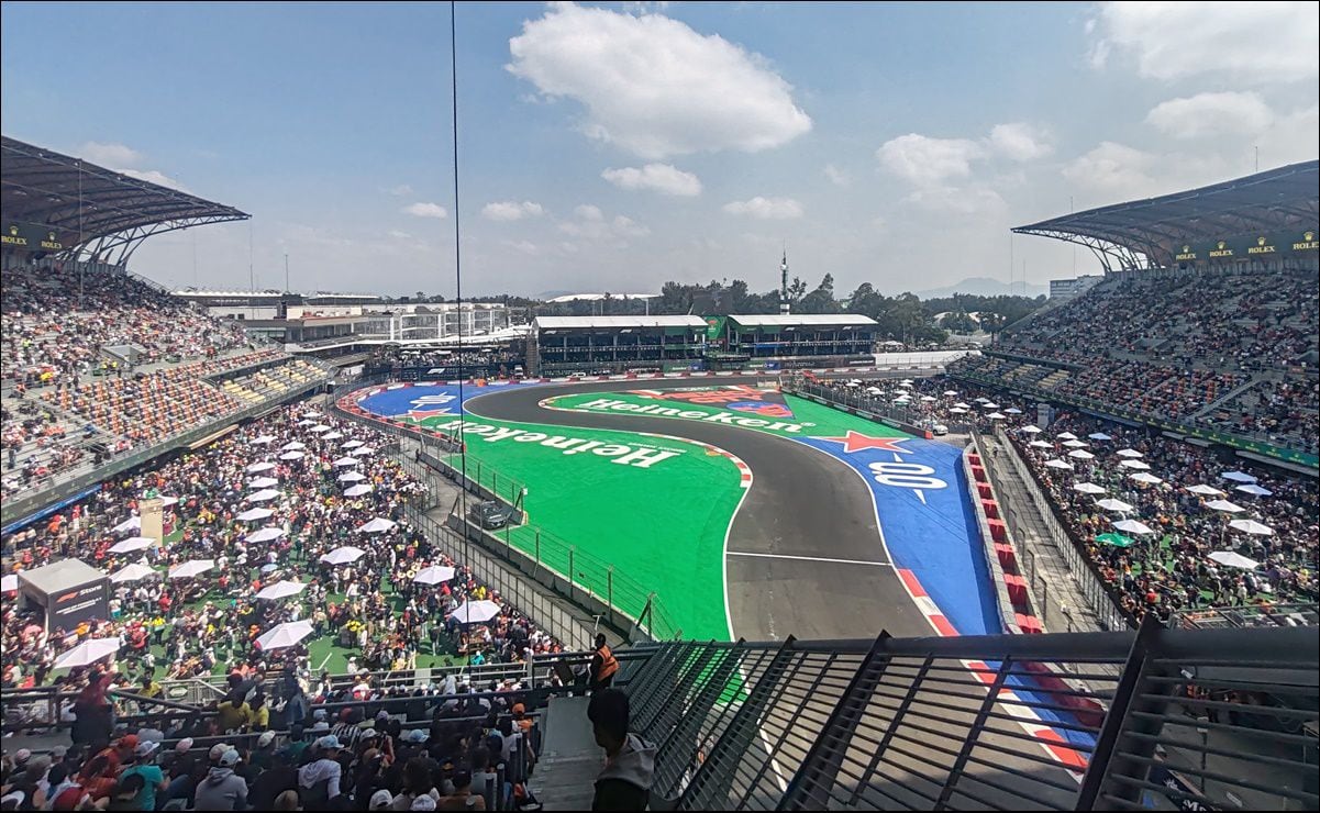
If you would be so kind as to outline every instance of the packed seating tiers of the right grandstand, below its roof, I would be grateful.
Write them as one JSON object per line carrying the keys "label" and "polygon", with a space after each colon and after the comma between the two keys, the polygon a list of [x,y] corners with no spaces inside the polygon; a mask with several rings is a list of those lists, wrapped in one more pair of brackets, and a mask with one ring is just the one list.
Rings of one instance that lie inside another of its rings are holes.
{"label": "packed seating tiers of the right grandstand, below its roof", "polygon": [[1131,273],[950,372],[1316,454],[1317,302],[1305,272]]}

